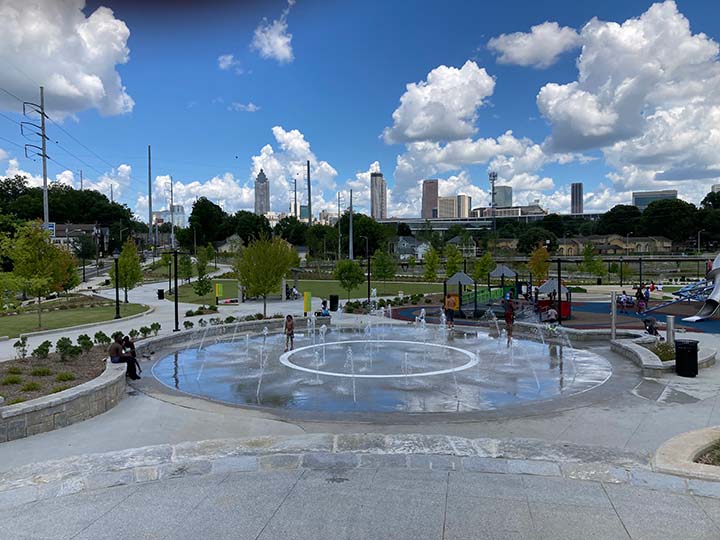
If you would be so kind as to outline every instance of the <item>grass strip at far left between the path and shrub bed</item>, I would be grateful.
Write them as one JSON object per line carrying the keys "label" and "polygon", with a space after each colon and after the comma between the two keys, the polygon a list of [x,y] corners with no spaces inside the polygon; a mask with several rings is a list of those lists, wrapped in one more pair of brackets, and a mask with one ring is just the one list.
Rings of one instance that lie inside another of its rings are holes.
{"label": "grass strip at far left between the path and shrub bed", "polygon": [[[120,315],[127,317],[147,310],[143,304],[120,304]],[[76,308],[63,311],[43,311],[42,330],[55,330],[93,322],[110,321],[115,318],[115,306]],[[34,332],[37,327],[37,312],[0,317],[0,336],[18,337]]]}

